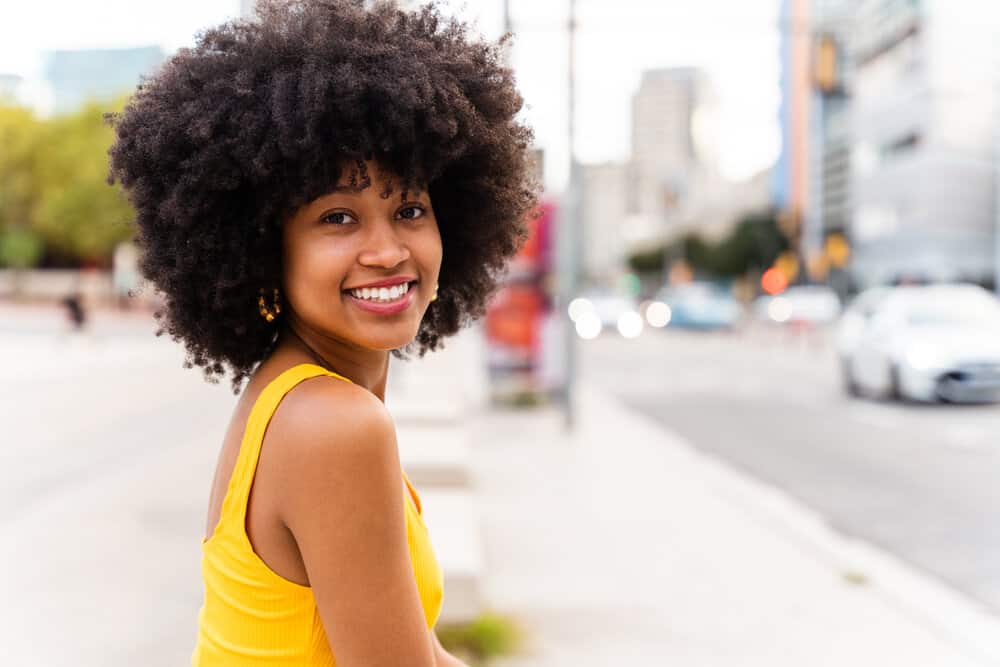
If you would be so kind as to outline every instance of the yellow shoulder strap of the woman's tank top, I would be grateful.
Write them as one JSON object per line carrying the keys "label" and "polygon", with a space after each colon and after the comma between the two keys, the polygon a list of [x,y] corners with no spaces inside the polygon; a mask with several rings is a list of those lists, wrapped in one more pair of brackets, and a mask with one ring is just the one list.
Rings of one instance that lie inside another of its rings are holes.
{"label": "yellow shoulder strap of the woman's tank top", "polygon": [[225,528],[228,525],[237,531],[243,531],[250,487],[257,471],[257,461],[260,459],[264,432],[271,422],[271,417],[278,409],[281,399],[295,385],[319,375],[329,375],[345,382],[351,382],[343,375],[327,370],[318,364],[297,364],[278,374],[257,396],[253,407],[250,408],[250,415],[247,417],[243,430],[243,439],[240,441],[240,451],[236,457],[236,464],[233,466],[233,473],[229,478],[226,495],[222,500],[222,511],[219,517],[220,528]]}

